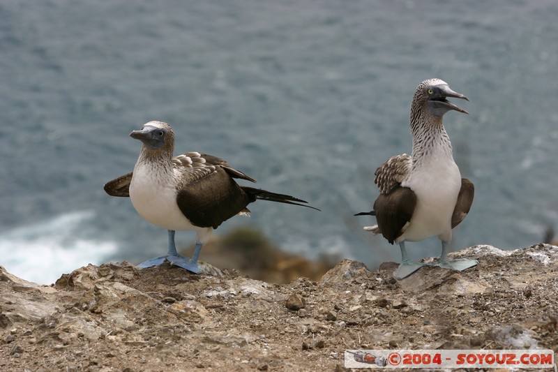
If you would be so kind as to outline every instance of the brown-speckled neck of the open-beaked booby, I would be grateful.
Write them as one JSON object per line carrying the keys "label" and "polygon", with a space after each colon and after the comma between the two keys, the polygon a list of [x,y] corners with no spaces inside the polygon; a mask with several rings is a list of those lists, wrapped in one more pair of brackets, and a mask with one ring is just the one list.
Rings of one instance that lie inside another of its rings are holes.
{"label": "brown-speckled neck of the open-beaked booby", "polygon": [[411,110],[411,134],[414,163],[420,164],[422,158],[429,156],[453,159],[451,142],[442,118],[430,114],[428,109]]}

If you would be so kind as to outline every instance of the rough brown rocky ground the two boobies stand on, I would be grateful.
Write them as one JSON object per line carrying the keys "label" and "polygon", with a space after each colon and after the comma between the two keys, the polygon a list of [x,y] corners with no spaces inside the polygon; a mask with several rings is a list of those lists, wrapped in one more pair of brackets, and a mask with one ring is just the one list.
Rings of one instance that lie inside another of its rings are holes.
{"label": "rough brown rocky ground the two boobies stand on", "polygon": [[[52,286],[0,268],[0,371],[342,371],[345,349],[558,350],[558,247],[474,246],[465,272],[343,260],[320,281],[126,262]],[[298,295],[305,306],[285,306]]]}

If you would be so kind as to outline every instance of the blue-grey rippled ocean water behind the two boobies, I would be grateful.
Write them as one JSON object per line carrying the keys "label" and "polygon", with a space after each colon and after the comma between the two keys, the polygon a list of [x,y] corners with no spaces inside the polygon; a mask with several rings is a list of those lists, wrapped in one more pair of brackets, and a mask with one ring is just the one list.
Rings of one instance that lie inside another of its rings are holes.
{"label": "blue-grey rippled ocean water behind the two boobies", "polygon": [[453,247],[538,243],[558,228],[557,19],[554,0],[3,1],[0,265],[52,283],[162,253],[167,233],[103,191],[153,119],[176,154],[223,157],[322,209],[257,202],[214,234],[250,225],[310,258],[398,260],[352,215],[377,196],[375,168],[411,151],[409,104],[430,77],[470,99],[444,117],[476,186]]}

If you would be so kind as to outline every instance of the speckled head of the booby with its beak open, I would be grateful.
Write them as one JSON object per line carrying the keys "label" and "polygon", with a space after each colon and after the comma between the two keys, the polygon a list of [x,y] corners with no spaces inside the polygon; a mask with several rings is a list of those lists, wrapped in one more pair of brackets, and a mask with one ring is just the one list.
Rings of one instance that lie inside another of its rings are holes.
{"label": "speckled head of the booby with its beak open", "polygon": [[469,114],[466,110],[451,103],[448,97],[460,98],[469,101],[469,98],[450,89],[448,83],[440,79],[428,79],[418,84],[414,92],[411,110],[423,110],[428,108],[431,114],[436,117],[443,117],[450,110]]}

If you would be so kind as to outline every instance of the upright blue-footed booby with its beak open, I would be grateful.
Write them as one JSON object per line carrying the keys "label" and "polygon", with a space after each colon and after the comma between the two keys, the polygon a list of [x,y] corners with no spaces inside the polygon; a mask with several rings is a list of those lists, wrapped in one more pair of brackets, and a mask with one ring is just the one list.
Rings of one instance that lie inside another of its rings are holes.
{"label": "upright blue-footed booby with its beak open", "polygon": [[469,213],[474,197],[471,181],[461,178],[453,161],[451,142],[442,117],[450,110],[469,114],[446,98],[469,98],[450,89],[443,80],[430,79],[416,88],[411,103],[412,156],[389,158],[375,172],[374,183],[380,195],[372,211],[359,215],[376,216],[377,225],[364,230],[382,234],[401,250],[401,264],[395,278],[405,278],[424,264],[412,262],[405,241],[421,241],[438,237],[442,255],[435,266],[465,270],[477,265],[476,260],[448,259],[451,230]]}

